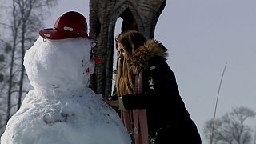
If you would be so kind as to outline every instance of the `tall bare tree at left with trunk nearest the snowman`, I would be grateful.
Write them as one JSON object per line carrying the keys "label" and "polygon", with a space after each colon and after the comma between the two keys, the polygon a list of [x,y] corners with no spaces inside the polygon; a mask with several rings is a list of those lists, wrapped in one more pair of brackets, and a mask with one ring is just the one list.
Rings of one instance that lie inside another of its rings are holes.
{"label": "tall bare tree at left with trunk nearest the snowman", "polygon": [[[34,42],[34,37],[31,38],[29,35],[37,35],[34,34],[34,30],[38,30],[42,27],[42,23],[39,18],[42,18],[42,15],[38,12],[38,9],[42,9],[45,6],[54,6],[53,0],[14,0],[17,6],[17,12],[15,15],[18,15],[18,21],[20,22],[20,50],[21,50],[21,72],[19,79],[19,89],[18,89],[18,109],[22,103],[22,93],[23,93],[23,79],[25,75],[25,68],[23,66],[23,58],[25,55],[25,51],[28,46],[31,45],[31,42]],[[14,4],[14,7],[15,7]],[[47,5],[48,4],[48,5]],[[14,15],[13,15],[14,16]],[[38,23],[40,22],[40,23]],[[34,28],[34,30],[29,30]]]}

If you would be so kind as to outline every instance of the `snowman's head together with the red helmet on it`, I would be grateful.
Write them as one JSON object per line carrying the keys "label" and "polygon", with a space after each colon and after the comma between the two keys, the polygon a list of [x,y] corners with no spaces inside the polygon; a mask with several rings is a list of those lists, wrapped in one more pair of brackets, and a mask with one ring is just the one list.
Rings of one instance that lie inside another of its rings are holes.
{"label": "snowman's head together with the red helmet on it", "polygon": [[89,86],[90,74],[94,72],[95,42],[88,37],[82,14],[63,14],[53,29],[41,30],[39,34],[24,58],[31,85],[35,89],[64,92]]}

